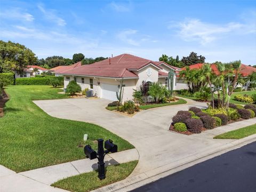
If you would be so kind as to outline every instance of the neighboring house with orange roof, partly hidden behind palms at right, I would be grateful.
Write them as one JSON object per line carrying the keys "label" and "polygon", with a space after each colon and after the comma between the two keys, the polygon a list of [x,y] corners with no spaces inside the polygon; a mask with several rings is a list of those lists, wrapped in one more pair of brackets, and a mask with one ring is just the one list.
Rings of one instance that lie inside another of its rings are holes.
{"label": "neighboring house with orange roof, partly hidden behind palms at right", "polygon": [[[203,67],[203,65],[204,65],[204,63],[197,63],[197,64],[189,66],[189,69],[191,69],[191,70],[192,69],[201,69]],[[219,74],[219,70],[214,63],[212,63],[211,68],[215,75]],[[186,67],[181,68],[181,70],[185,70],[185,69],[186,69]],[[244,78],[246,78],[253,72],[256,72],[256,68],[250,67],[250,66],[247,66],[244,64],[241,65],[240,73]],[[184,78],[179,77],[179,75],[177,76],[177,87],[179,89],[188,89],[187,82],[185,81]],[[238,84],[237,87],[242,87],[243,89],[247,90],[247,88],[248,88],[247,82],[244,85]]]}

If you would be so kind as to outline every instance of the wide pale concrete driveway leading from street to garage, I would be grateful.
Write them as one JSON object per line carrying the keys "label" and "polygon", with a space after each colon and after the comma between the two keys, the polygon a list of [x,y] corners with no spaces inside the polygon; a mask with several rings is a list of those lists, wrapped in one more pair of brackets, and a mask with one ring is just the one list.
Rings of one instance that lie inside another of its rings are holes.
{"label": "wide pale concrete driveway leading from street to garage", "polygon": [[[138,150],[139,164],[132,175],[154,174],[159,167],[215,149],[231,142],[213,140],[210,132],[183,135],[168,131],[172,116],[190,106],[206,107],[206,103],[188,100],[187,104],[144,110],[133,117],[105,109],[105,99],[58,99],[34,101],[47,114],[64,119],[90,122],[104,127],[132,143]],[[82,137],[82,136],[81,136]],[[90,137],[90,135],[89,135]]]}

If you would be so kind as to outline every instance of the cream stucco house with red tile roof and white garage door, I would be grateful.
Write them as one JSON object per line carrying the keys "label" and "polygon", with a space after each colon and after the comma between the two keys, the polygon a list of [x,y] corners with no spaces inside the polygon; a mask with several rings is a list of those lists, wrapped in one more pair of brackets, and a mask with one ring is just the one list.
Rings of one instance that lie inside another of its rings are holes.
{"label": "cream stucco house with red tile roof and white garage door", "polygon": [[[168,83],[168,73],[174,71],[175,79],[180,68],[167,65],[163,61],[151,61],[136,57],[131,54],[121,54],[113,58],[95,62],[91,65],[83,65],[65,71],[64,86],[72,80],[76,81],[82,90],[93,90],[93,95],[116,101],[117,93],[123,87],[123,101],[133,99],[134,90],[138,90],[143,81]],[[121,83],[123,82],[123,83]]]}

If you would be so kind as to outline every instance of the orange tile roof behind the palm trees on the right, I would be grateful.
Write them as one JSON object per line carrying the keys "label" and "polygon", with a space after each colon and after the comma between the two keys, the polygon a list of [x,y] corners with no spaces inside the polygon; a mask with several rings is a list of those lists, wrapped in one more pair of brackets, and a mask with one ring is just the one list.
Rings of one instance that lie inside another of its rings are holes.
{"label": "orange tile roof behind the palm trees on the right", "polygon": [[[189,69],[201,69],[203,67],[203,65],[204,65],[204,63],[196,63],[194,65],[189,66]],[[186,67],[183,67],[183,68],[181,68],[181,70],[184,70],[185,68]],[[214,63],[211,64],[211,68],[212,68],[214,74],[219,75],[219,70]],[[242,76],[248,76],[252,72],[256,72],[256,68],[250,67],[250,66],[247,66],[244,64],[241,65],[240,73],[242,74]]]}

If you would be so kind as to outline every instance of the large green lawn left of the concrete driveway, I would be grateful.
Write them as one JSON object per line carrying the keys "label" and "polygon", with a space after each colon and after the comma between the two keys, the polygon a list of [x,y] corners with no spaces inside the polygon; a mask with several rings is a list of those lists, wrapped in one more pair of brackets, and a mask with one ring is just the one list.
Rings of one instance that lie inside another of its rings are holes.
{"label": "large green lawn left of the concrete driveway", "polygon": [[[112,139],[118,150],[134,148],[117,135],[90,123],[59,119],[47,115],[32,100],[63,99],[62,90],[47,85],[6,87],[10,100],[0,118],[0,164],[16,172],[85,158],[83,148],[97,148],[96,139]],[[83,141],[83,135],[89,140]]]}

